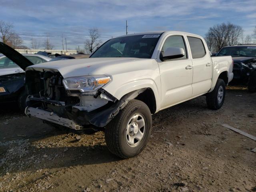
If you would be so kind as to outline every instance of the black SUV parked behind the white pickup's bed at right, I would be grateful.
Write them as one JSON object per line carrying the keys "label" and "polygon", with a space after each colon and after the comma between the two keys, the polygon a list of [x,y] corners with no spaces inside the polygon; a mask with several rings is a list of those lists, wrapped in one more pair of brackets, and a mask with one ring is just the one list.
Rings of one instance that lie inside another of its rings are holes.
{"label": "black SUV parked behind the white pickup's bed at right", "polygon": [[216,54],[225,55],[234,60],[232,82],[247,84],[250,92],[256,92],[256,44],[226,46]]}

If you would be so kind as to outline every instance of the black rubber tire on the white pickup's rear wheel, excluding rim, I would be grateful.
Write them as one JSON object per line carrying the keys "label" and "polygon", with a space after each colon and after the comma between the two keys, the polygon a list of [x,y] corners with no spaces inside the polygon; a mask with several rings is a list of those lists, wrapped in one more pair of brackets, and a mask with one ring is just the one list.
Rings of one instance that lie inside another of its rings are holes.
{"label": "black rubber tire on the white pickup's rear wheel, excluding rim", "polygon": [[[223,90],[223,96],[222,96],[221,102],[220,100],[218,100],[218,92],[219,92],[219,89],[221,89],[220,87],[222,87],[222,90]],[[214,90],[206,94],[206,103],[208,108],[212,110],[220,109],[224,103],[225,95],[226,95],[226,84],[224,80],[218,79],[214,87]]]}

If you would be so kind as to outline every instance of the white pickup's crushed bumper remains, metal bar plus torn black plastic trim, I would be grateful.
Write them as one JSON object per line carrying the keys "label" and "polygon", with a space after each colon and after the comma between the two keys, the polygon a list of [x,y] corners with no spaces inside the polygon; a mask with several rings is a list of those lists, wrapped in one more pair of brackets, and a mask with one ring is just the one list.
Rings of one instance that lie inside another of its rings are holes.
{"label": "white pickup's crushed bumper remains, metal bar plus torn black plastic trim", "polygon": [[86,128],[86,126],[93,125],[97,127],[105,127],[118,113],[122,110],[128,102],[136,98],[140,93],[144,92],[146,88],[130,92],[123,96],[120,100],[108,108],[102,110],[92,110],[86,112],[78,108],[72,108],[71,111],[64,110],[64,117],[58,116],[54,112],[48,112],[40,108],[27,107],[25,114],[27,116],[34,116],[42,120],[52,122],[58,125],[66,126],[75,130]]}

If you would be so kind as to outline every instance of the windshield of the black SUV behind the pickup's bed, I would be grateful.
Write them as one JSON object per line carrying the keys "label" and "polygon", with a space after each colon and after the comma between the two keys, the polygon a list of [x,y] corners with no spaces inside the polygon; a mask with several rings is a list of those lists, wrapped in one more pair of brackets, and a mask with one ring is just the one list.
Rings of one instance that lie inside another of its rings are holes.
{"label": "windshield of the black SUV behind the pickup's bed", "polygon": [[232,57],[256,57],[256,46],[224,47],[217,56],[230,55]]}

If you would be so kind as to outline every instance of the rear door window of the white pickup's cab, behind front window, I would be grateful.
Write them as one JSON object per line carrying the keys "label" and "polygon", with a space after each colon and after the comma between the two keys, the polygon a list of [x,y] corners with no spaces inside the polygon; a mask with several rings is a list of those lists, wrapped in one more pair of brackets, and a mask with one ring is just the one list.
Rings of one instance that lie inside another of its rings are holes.
{"label": "rear door window of the white pickup's cab, behind front window", "polygon": [[190,45],[190,50],[193,59],[202,58],[205,56],[206,51],[201,39],[195,37],[188,37],[188,42]]}

